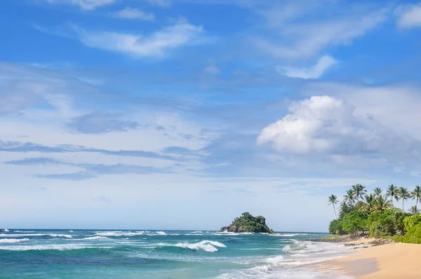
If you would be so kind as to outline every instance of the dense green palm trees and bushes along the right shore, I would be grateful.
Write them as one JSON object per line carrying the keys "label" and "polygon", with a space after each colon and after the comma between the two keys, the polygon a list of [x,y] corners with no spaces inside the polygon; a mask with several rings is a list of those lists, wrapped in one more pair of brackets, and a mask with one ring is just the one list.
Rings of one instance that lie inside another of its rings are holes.
{"label": "dense green palm trees and bushes along the right shore", "polygon": [[[411,199],[415,200],[415,205],[406,212],[405,202]],[[402,208],[394,207],[394,200],[401,201]],[[342,202],[335,195],[328,197],[328,205],[333,206],[336,217],[329,224],[329,233],[421,243],[421,215],[417,208],[420,201],[421,186],[418,185],[410,191],[391,184],[385,194],[380,187],[373,189],[373,193],[367,193],[365,186],[352,185],[345,192]]]}

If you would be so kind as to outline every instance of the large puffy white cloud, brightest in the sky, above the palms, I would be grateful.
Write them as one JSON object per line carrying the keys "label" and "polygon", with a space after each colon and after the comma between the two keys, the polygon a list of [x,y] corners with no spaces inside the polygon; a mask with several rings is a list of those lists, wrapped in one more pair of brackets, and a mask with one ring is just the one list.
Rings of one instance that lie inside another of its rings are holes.
{"label": "large puffy white cloud, brightest in the sky, above the palms", "polygon": [[382,149],[392,135],[370,118],[356,116],[344,100],[313,96],[296,102],[290,114],[268,125],[258,144],[271,144],[279,151],[312,151],[359,154]]}

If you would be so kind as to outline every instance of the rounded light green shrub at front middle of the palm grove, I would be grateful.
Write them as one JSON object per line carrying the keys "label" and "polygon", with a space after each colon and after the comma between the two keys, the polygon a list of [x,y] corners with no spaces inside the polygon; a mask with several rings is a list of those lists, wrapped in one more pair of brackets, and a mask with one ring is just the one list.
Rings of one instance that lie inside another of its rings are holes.
{"label": "rounded light green shrub at front middle of the palm grove", "polygon": [[367,220],[368,233],[375,238],[394,236],[396,234],[395,219],[392,210],[373,213]]}

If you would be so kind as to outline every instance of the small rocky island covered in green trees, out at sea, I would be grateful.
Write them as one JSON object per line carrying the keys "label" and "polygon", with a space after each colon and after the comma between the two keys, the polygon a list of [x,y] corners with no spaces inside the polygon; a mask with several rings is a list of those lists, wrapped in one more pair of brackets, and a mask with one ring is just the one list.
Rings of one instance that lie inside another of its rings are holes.
{"label": "small rocky island covered in green trees, out at sea", "polygon": [[248,212],[244,212],[240,217],[236,217],[229,226],[222,226],[220,231],[233,233],[274,233],[267,226],[265,217],[254,217]]}

